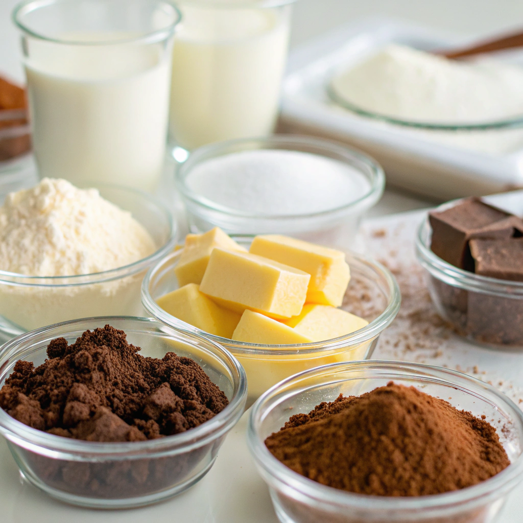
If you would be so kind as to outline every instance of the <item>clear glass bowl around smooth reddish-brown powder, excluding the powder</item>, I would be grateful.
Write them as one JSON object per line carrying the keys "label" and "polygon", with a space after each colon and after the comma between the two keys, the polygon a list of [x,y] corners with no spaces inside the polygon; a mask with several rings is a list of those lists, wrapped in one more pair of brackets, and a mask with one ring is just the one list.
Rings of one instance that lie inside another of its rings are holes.
{"label": "clear glass bowl around smooth reddish-brown powder, excluding the powder", "polygon": [[[420,497],[369,496],[312,481],[287,468],[265,447],[265,438],[291,415],[309,413],[339,394],[360,395],[391,380],[445,398],[475,416],[485,415],[497,429],[511,464],[491,479],[460,491]],[[283,523],[491,523],[523,477],[523,413],[519,408],[480,380],[414,363],[335,363],[282,381],[253,406],[247,442]]]}

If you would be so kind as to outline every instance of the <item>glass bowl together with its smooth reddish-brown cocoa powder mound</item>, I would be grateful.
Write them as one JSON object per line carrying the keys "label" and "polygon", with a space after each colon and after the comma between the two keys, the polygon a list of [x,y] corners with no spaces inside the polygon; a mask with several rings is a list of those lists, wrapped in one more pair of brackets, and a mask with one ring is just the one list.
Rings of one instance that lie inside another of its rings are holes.
{"label": "glass bowl together with its smooth reddish-brown cocoa powder mound", "polygon": [[[345,417],[323,417],[329,409]],[[523,477],[519,408],[480,380],[414,363],[334,363],[296,374],[255,403],[247,441],[285,523],[491,523]],[[341,456],[340,448],[353,450]],[[333,476],[343,486],[327,486]]]}

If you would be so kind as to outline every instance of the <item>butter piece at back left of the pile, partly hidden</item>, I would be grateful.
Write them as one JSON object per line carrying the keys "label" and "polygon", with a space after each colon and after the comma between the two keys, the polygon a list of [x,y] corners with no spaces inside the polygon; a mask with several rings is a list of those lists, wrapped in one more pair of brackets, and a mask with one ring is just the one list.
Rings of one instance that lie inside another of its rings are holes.
{"label": "butter piece at back left of the pile, partly hidden", "polygon": [[218,227],[203,234],[188,234],[185,237],[184,251],[174,268],[179,287],[187,283],[201,283],[214,247],[247,252],[247,249],[238,245]]}

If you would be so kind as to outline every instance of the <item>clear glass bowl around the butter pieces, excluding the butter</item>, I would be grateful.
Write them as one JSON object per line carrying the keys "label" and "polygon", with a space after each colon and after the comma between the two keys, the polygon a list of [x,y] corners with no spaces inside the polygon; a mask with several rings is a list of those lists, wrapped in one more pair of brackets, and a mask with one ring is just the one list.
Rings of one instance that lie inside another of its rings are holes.
{"label": "clear glass bowl around the butter pieces, excluding the butter", "polygon": [[169,254],[147,272],[142,283],[143,306],[162,323],[184,333],[209,338],[231,351],[247,373],[248,404],[275,383],[302,370],[336,361],[370,358],[379,335],[400,309],[400,290],[392,274],[376,261],[347,254],[351,278],[342,309],[365,318],[369,321],[367,326],[346,336],[318,343],[263,345],[237,342],[201,331],[156,304],[157,298],[178,288],[174,267],[180,254],[181,251]]}

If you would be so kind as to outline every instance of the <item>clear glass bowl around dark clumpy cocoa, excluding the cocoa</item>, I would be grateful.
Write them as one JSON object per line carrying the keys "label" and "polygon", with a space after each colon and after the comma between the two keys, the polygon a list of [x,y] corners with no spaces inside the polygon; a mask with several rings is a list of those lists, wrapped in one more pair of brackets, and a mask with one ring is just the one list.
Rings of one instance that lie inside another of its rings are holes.
{"label": "clear glass bowl around dark clumpy cocoa, excluding the cocoa", "polygon": [[51,325],[23,334],[0,351],[0,384],[16,361],[35,366],[47,358],[49,342],[73,343],[86,329],[105,324],[122,329],[143,356],[174,351],[194,359],[225,393],[229,405],[202,425],[147,441],[103,443],[63,438],[33,429],[0,409],[0,433],[24,477],[42,491],[73,505],[124,508],[147,505],[183,492],[206,474],[225,435],[240,419],[247,396],[245,371],[210,340],[169,329],[153,319],[96,317]]}

